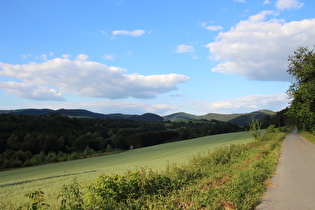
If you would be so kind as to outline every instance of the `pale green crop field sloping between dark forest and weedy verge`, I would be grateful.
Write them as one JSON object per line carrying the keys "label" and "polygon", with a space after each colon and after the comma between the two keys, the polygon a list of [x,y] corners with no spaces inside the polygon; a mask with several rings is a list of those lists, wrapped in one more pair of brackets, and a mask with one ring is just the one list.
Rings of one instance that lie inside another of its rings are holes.
{"label": "pale green crop field sloping between dark forest and weedy verge", "polygon": [[0,207],[19,205],[32,190],[45,192],[48,203],[55,201],[63,184],[76,178],[81,185],[97,179],[100,174],[123,174],[140,168],[165,170],[168,165],[181,165],[193,156],[207,154],[216,148],[247,143],[247,132],[228,133],[191,140],[160,144],[126,152],[62,163],[47,164],[0,172]]}

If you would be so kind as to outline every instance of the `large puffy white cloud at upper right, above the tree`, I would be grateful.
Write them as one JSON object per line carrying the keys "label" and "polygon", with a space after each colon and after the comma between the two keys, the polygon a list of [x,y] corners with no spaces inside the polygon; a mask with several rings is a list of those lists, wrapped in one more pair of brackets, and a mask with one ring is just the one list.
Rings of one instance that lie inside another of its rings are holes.
{"label": "large puffy white cloud at upper right, above the tree", "polygon": [[315,19],[286,23],[270,19],[277,15],[263,11],[221,32],[209,43],[211,58],[220,63],[212,71],[243,75],[249,80],[290,81],[287,58],[299,46],[312,46]]}

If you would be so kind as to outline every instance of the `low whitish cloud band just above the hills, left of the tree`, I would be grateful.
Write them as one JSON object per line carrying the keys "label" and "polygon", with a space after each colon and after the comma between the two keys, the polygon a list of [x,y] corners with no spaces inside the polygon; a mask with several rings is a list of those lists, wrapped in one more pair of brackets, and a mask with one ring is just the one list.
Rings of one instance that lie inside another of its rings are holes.
{"label": "low whitish cloud band just above the hills, left of the tree", "polygon": [[194,101],[192,104],[199,107],[204,113],[246,113],[261,109],[280,111],[288,106],[289,100],[285,93],[273,95],[252,95],[233,98],[223,101],[208,102]]}

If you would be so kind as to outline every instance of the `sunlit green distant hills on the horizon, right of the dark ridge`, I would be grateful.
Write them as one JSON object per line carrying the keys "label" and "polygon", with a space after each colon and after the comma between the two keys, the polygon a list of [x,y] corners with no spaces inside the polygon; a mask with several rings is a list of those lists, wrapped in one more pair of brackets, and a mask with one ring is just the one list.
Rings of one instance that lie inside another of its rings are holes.
{"label": "sunlit green distant hills on the horizon, right of the dark ridge", "polygon": [[184,112],[179,112],[171,115],[164,116],[165,120],[182,121],[182,120],[218,120],[222,122],[234,123],[240,126],[247,125],[252,119],[263,121],[266,116],[273,117],[276,113],[270,110],[259,110],[251,113],[244,114],[215,114],[209,113],[206,115],[191,115]]}

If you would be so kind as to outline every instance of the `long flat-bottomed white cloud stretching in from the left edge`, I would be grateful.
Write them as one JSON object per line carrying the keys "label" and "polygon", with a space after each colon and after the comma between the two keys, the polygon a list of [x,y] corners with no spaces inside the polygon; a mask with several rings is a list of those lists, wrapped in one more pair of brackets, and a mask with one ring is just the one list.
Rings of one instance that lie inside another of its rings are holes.
{"label": "long flat-bottomed white cloud stretching in from the left edge", "polygon": [[88,56],[81,54],[76,60],[55,58],[24,65],[0,63],[0,76],[13,78],[1,82],[0,88],[37,100],[62,100],[64,93],[95,98],[147,99],[176,90],[178,83],[189,79],[179,74],[127,74],[125,69],[87,59]]}

